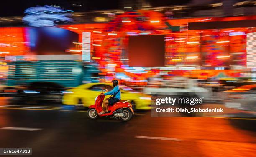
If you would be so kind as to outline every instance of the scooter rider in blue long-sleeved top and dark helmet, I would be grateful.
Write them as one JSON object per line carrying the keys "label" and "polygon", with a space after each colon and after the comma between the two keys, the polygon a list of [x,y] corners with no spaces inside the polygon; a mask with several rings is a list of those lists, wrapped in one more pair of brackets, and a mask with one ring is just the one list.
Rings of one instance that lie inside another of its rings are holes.
{"label": "scooter rider in blue long-sleeved top and dark helmet", "polygon": [[103,101],[103,110],[99,114],[104,114],[105,112],[108,112],[108,105],[113,105],[121,100],[121,91],[120,87],[118,86],[118,80],[112,80],[111,82],[113,83],[113,90],[106,92],[104,95],[113,95],[113,97],[110,97],[109,99]]}

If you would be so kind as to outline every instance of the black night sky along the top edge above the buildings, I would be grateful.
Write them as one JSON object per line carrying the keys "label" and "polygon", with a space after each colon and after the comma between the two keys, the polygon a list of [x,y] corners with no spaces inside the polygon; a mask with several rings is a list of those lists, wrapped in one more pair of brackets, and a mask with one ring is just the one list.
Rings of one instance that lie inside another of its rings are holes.
{"label": "black night sky along the top edge above the buildings", "polygon": [[[91,10],[105,10],[120,8],[122,0],[1,0],[0,17],[23,15],[28,7],[36,5],[59,5],[65,9],[73,9],[77,12]],[[148,0],[152,6],[181,5],[189,3],[190,0]],[[76,7],[72,4],[82,5]]]}

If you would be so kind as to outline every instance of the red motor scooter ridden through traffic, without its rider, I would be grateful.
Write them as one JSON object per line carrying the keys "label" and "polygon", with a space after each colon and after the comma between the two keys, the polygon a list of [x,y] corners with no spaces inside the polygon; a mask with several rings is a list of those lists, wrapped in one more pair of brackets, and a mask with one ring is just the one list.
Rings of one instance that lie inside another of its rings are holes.
{"label": "red motor scooter ridden through traffic, without its rider", "polygon": [[121,100],[113,105],[108,105],[108,112],[99,115],[99,113],[102,111],[102,102],[104,98],[105,95],[98,95],[95,98],[95,104],[89,106],[89,109],[87,111],[87,117],[89,119],[95,120],[97,119],[97,117],[111,117],[120,119],[122,121],[128,121],[131,119],[134,111],[132,105],[128,103],[129,100]]}

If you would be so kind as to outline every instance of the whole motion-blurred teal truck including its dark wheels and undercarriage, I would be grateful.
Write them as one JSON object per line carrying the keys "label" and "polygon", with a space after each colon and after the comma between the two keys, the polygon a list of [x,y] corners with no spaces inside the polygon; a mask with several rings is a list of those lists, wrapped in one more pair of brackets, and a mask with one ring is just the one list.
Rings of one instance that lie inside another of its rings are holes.
{"label": "whole motion-blurred teal truck including its dark wheels and undercarriage", "polygon": [[[39,57],[39,59],[42,57]],[[45,59],[47,58],[47,59]],[[65,60],[60,60],[64,58]],[[70,57],[47,56],[37,61],[9,62],[5,94],[26,100],[61,101],[67,88],[99,82],[100,70],[94,65]],[[10,92],[14,91],[14,92]]]}

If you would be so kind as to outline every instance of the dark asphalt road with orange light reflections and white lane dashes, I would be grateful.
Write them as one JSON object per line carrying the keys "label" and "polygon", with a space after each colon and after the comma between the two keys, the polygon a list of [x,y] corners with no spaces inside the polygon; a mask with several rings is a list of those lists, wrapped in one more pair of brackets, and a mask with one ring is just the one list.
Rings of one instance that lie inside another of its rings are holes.
{"label": "dark asphalt road with orange light reflections and white lane dashes", "polygon": [[88,120],[86,114],[72,106],[15,105],[0,98],[0,148],[32,148],[25,157],[256,156],[253,118],[151,117],[139,111],[121,122]]}

